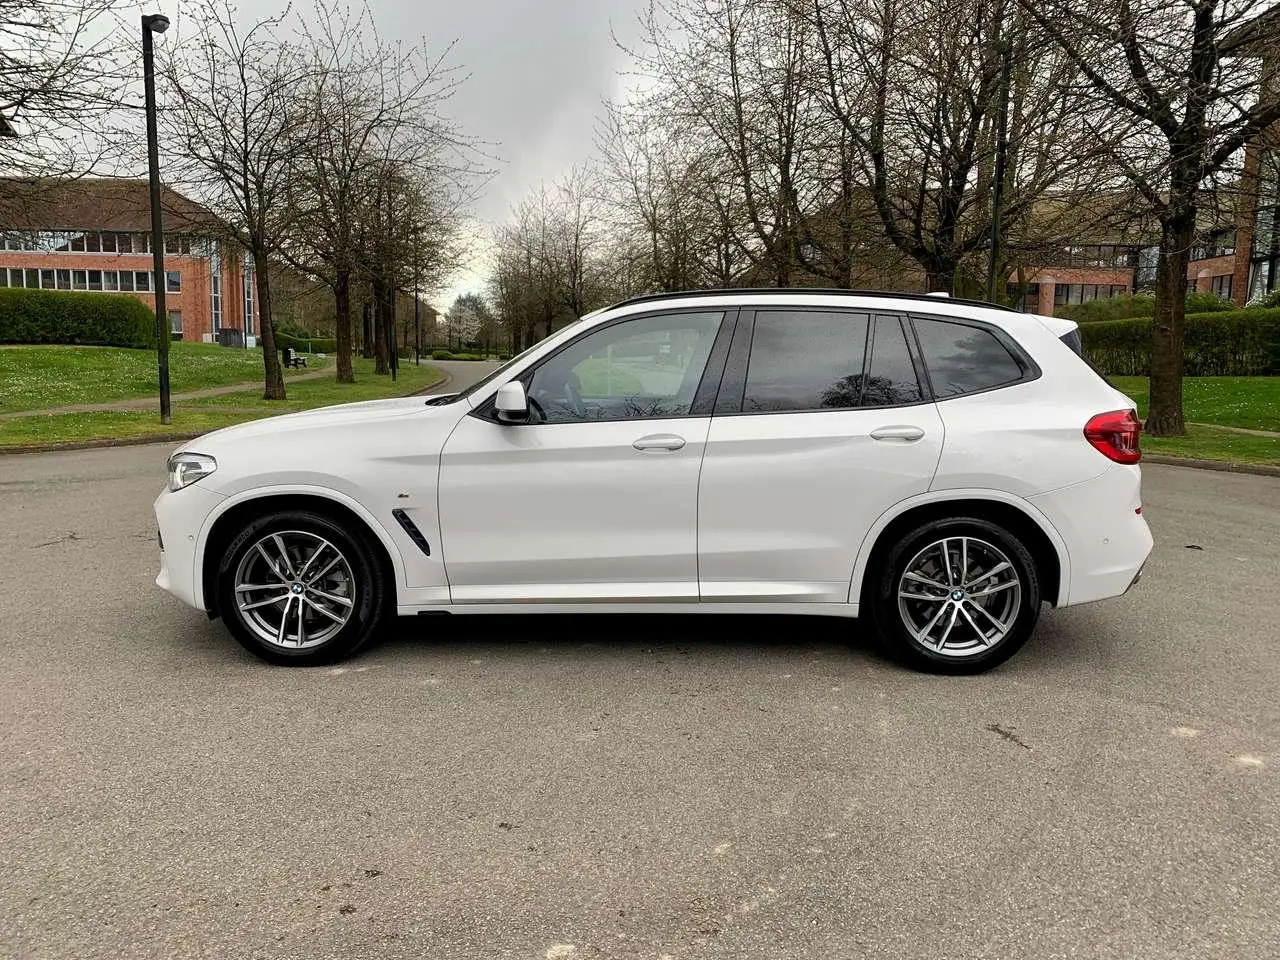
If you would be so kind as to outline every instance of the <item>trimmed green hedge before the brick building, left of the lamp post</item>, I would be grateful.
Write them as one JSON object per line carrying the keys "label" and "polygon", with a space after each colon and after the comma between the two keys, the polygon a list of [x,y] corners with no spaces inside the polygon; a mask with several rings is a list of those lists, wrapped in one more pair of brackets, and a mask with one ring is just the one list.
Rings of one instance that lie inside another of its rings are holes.
{"label": "trimmed green hedge before the brick building, left of the lamp post", "polygon": [[154,349],[156,315],[129,296],[0,287],[0,343]]}

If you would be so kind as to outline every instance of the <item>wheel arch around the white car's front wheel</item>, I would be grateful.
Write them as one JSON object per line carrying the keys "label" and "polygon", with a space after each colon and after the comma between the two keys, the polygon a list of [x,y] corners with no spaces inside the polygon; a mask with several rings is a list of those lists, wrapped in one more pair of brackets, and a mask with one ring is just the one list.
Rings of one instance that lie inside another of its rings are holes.
{"label": "wheel arch around the white car's front wheel", "polygon": [[360,503],[328,488],[261,488],[219,504],[201,527],[196,543],[195,586],[196,602],[210,617],[219,616],[218,591],[214,589],[223,550],[243,529],[244,524],[269,512],[307,509],[320,513],[351,529],[361,536],[383,567],[390,584],[388,602],[394,605],[399,585],[404,582],[404,567],[390,535],[381,524]]}

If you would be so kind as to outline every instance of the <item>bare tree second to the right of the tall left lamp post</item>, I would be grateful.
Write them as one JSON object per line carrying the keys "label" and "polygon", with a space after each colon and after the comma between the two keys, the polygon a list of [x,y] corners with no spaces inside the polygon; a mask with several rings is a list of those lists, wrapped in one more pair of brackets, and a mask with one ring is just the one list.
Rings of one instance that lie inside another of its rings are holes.
{"label": "bare tree second to the right of the tall left lamp post", "polygon": [[[381,216],[388,170],[417,180],[411,209],[393,219],[412,220],[415,282],[430,288],[452,265],[449,239],[479,169],[474,145],[442,114],[461,82],[447,63],[449,47],[433,55],[425,44],[384,42],[367,8],[352,14],[320,3],[312,20],[301,28],[311,68],[298,95],[321,123],[292,180],[297,218],[285,255],[333,291],[338,379],[351,383],[352,284],[367,274],[361,238],[385,241],[390,229]],[[380,248],[392,252],[387,242]]]}

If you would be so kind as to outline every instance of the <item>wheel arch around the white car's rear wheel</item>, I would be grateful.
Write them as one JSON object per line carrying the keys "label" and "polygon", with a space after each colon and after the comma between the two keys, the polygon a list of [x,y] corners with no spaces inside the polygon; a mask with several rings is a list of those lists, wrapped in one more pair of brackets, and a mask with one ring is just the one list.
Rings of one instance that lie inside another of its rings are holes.
{"label": "wheel arch around the white car's rear wheel", "polygon": [[1066,544],[1043,513],[1027,500],[1002,490],[936,490],[887,509],[859,547],[849,589],[850,602],[858,603],[859,611],[865,609],[867,591],[873,580],[867,576],[867,571],[877,568],[902,534],[931,520],[960,516],[989,520],[1016,534],[1036,561],[1044,599],[1055,607],[1066,603],[1071,582]]}

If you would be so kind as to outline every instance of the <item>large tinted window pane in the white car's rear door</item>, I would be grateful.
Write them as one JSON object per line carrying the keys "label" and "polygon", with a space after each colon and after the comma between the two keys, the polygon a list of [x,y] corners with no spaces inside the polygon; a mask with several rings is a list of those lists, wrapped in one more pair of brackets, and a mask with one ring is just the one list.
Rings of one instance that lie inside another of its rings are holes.
{"label": "large tinted window pane in the white car's rear door", "polygon": [[856,407],[863,390],[867,328],[865,314],[756,312],[742,410]]}

